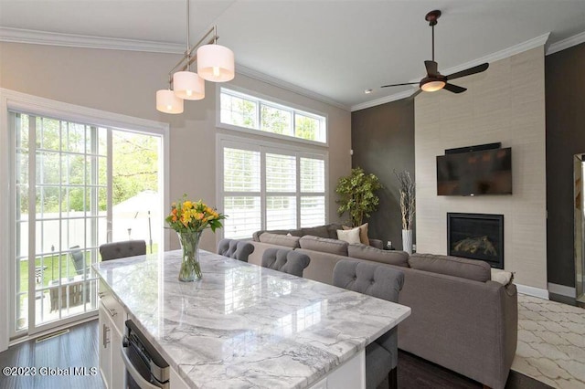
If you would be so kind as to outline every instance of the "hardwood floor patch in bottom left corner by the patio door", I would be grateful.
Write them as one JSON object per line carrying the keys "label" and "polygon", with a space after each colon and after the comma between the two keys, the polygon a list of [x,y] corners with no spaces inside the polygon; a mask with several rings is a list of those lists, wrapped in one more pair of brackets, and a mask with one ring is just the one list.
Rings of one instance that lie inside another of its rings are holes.
{"label": "hardwood floor patch in bottom left corner by the patio door", "polygon": [[[33,373],[34,368],[35,375],[6,376],[4,369],[11,366],[27,368],[28,372],[21,373]],[[2,389],[105,388],[98,362],[98,321],[73,326],[68,333],[46,341],[9,347],[0,352],[0,367]]]}

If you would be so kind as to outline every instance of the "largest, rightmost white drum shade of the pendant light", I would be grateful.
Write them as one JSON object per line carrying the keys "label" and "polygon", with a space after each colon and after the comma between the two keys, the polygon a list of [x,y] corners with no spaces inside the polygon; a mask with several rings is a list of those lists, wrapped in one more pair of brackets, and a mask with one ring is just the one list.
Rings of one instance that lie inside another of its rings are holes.
{"label": "largest, rightmost white drum shade of the pendant light", "polygon": [[202,79],[214,82],[233,79],[236,75],[234,52],[217,44],[197,48],[197,74]]}

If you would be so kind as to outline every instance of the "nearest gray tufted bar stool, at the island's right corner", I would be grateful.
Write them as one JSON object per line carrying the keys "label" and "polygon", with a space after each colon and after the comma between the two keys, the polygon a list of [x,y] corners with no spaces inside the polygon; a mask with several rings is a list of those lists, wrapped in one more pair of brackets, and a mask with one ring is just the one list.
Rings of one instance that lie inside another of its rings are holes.
{"label": "nearest gray tufted bar stool, at the island's right corner", "polygon": [[[399,301],[404,273],[386,265],[342,259],[335,265],[333,284],[392,302]],[[376,389],[388,377],[390,388],[398,387],[398,328],[380,336],[366,347],[366,388]]]}

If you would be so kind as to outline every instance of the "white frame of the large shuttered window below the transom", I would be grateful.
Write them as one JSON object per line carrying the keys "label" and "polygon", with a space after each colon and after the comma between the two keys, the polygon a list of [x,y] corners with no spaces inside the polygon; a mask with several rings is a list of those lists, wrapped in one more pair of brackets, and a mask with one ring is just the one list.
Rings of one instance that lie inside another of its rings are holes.
{"label": "white frame of the large shuttered window below the transom", "polygon": [[[288,137],[287,137],[288,139]],[[322,143],[320,143],[322,144]],[[296,192],[295,197],[297,201],[297,209],[296,209],[296,228],[301,226],[301,206],[300,206],[300,199],[306,196],[314,196],[314,195],[321,195],[320,193],[302,193],[301,192],[301,176],[300,176],[300,161],[301,158],[314,158],[314,159],[323,159],[324,161],[324,220],[325,223],[329,220],[329,152],[324,149],[323,147],[320,149],[311,148],[311,147],[299,147],[298,145],[289,145],[289,144],[282,144],[277,142],[270,142],[265,140],[258,140],[252,139],[250,137],[241,137],[241,136],[234,136],[225,133],[218,133],[216,136],[216,155],[217,155],[217,163],[216,163],[216,193],[217,195],[217,204],[218,209],[221,212],[224,211],[224,197],[225,192],[223,190],[223,183],[224,183],[224,161],[223,161],[223,149],[224,147],[240,149],[240,150],[250,150],[254,152],[261,152],[261,227],[260,229],[266,229],[266,198],[267,195],[292,195],[292,192],[285,192],[285,193],[273,193],[270,194],[266,191],[266,153],[279,153],[279,154],[286,154],[286,155],[294,155],[296,157],[296,166],[297,166],[297,174],[296,174]],[[216,231],[218,233],[219,238],[224,237],[223,229],[219,229]]]}

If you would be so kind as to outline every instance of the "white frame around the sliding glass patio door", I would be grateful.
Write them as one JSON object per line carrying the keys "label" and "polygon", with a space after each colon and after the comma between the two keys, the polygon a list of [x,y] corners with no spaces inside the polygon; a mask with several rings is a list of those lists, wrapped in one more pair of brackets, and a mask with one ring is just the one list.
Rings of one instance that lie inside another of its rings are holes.
{"label": "white frame around the sliding glass patio door", "polygon": [[[10,276],[8,282],[0,282],[0,311],[3,312],[12,312],[11,307],[13,307],[14,301],[11,301],[10,297],[12,296],[12,290],[15,288],[16,281],[12,279],[15,266],[14,258],[16,257],[16,247],[12,243],[16,238],[16,232],[13,226],[15,226],[16,220],[15,212],[12,212],[15,194],[14,188],[11,186],[16,173],[15,161],[13,159],[14,149],[12,147],[15,142],[15,134],[10,131],[9,110],[17,110],[36,116],[58,118],[63,121],[82,122],[89,125],[109,127],[123,131],[158,134],[162,138],[161,152],[163,154],[163,174],[160,183],[163,193],[162,205],[169,204],[170,183],[168,123],[135,118],[104,110],[94,110],[61,101],[28,95],[11,89],[0,88],[0,182],[5,183],[4,185],[0,185],[0,236],[5,239],[5,242],[11,242],[0,245],[0,274],[5,275],[4,277],[6,279]],[[163,220],[160,223],[163,223]],[[165,247],[168,247],[170,233],[166,229],[164,231],[163,242]],[[95,312],[97,314],[97,310]],[[10,337],[15,335],[11,331],[14,327],[12,325],[13,315],[6,314],[3,316],[4,321],[0,322],[0,352],[8,348]]]}

